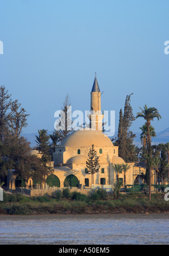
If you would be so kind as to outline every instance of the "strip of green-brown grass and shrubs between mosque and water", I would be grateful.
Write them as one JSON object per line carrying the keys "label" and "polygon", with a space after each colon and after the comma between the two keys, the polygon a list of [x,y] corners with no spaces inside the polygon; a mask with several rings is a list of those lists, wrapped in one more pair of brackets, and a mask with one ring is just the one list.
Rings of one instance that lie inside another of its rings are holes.
{"label": "strip of green-brown grass and shrubs between mosque and water", "polygon": [[84,195],[70,193],[69,189],[55,192],[52,196],[28,197],[20,193],[7,195],[0,201],[0,214],[98,214],[98,213],[169,213],[169,202],[164,200],[163,193],[148,195],[140,192],[121,193],[114,200],[113,193],[103,189]]}

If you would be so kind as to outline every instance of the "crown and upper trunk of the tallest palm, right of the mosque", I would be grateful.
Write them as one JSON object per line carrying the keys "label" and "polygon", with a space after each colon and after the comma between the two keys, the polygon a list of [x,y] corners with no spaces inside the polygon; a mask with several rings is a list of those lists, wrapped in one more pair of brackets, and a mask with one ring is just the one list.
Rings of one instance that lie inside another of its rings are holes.
{"label": "crown and upper trunk of the tallest palm, right of the mosque", "polygon": [[148,130],[148,152],[150,153],[150,145],[151,145],[151,139],[150,139],[150,125],[151,125],[151,121],[157,117],[157,119],[159,120],[159,118],[161,118],[161,115],[159,114],[157,108],[148,108],[145,104],[144,109],[140,108],[141,112],[137,113],[136,118],[138,117],[143,117],[146,120],[146,125],[147,125],[147,130]]}

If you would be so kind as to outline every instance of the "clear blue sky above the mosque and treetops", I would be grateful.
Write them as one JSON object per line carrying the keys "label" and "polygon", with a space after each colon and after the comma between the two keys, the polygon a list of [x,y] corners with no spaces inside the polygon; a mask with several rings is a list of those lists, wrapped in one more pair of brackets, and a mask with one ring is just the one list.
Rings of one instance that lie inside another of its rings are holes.
{"label": "clear blue sky above the mosque and treetops", "polygon": [[116,131],[131,93],[134,114],[155,107],[155,130],[169,127],[168,0],[0,0],[0,10],[0,86],[30,114],[24,133],[54,130],[66,93],[73,111],[90,110],[95,72]]}

